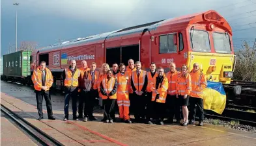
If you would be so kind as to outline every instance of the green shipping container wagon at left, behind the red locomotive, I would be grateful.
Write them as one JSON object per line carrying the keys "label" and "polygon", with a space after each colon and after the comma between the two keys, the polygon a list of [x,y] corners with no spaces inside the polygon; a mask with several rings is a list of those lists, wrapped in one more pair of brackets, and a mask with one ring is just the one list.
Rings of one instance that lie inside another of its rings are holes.
{"label": "green shipping container wagon at left, behind the red locomotive", "polygon": [[17,51],[3,55],[3,75],[1,75],[1,80],[31,84],[31,52]]}

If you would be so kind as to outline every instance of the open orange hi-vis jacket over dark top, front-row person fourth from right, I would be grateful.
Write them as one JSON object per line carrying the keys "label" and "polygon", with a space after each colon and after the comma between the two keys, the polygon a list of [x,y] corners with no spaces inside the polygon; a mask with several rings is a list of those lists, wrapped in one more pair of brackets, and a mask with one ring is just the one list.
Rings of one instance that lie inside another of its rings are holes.
{"label": "open orange hi-vis jacket over dark top, front-row person fourth from right", "polygon": [[167,77],[164,76],[164,79],[162,81],[162,85],[161,85],[161,83],[158,84],[158,89],[156,90],[157,93],[155,93],[154,90],[156,89],[156,78],[157,77],[155,77],[153,79],[153,82],[151,83],[151,90],[152,90],[152,99],[151,99],[151,101],[155,101],[156,94],[159,93],[159,98],[156,99],[156,102],[165,103],[166,96],[167,96],[167,90],[168,90],[168,79],[167,79]]}

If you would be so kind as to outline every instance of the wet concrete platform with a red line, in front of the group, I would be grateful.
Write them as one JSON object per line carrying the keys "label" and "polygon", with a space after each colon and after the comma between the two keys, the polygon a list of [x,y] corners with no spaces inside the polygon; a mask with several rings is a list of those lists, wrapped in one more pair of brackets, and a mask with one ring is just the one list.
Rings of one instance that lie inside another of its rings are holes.
{"label": "wet concrete platform with a red line, in front of the group", "polygon": [[[31,100],[36,100],[35,95],[26,94],[25,96],[31,96]],[[102,123],[100,121],[102,114],[94,114],[98,120],[86,123],[62,121],[63,110],[53,111],[54,116],[57,117],[55,121],[48,119],[37,121],[36,106],[32,104],[5,93],[1,93],[1,104],[16,111],[64,145],[256,145],[255,133],[213,125],[182,127],[180,125]],[[71,115],[72,112],[70,117]]]}

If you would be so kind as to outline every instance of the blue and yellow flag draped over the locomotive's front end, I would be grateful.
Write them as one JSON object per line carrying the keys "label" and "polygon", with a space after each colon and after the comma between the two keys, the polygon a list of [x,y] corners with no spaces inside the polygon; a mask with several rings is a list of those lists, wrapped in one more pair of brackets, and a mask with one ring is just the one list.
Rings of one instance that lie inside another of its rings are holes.
{"label": "blue and yellow flag draped over the locomotive's front end", "polygon": [[204,109],[222,114],[226,105],[226,93],[222,83],[207,80],[207,88],[202,92]]}

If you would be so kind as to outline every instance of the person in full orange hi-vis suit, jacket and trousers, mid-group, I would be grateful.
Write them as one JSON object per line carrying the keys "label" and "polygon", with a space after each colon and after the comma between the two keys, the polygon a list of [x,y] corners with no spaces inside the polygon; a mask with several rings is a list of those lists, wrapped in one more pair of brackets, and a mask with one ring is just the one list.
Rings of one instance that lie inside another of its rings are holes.
{"label": "person in full orange hi-vis suit, jacket and trousers, mid-group", "polygon": [[119,65],[119,73],[115,75],[117,78],[117,106],[119,107],[119,117],[125,123],[132,123],[129,116],[129,88],[130,74],[125,71],[125,65]]}

